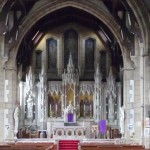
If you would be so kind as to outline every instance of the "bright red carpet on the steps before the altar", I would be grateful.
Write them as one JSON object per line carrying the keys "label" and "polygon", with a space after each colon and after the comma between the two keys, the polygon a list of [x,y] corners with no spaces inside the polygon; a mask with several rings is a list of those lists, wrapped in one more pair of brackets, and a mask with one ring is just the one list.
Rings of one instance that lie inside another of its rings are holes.
{"label": "bright red carpet on the steps before the altar", "polygon": [[78,150],[78,140],[60,140],[59,150]]}

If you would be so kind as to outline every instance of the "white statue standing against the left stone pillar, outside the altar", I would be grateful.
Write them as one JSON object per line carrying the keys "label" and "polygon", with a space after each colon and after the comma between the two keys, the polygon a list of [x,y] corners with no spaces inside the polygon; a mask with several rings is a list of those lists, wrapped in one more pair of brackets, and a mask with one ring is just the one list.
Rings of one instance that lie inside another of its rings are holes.
{"label": "white statue standing against the left stone pillar, outside the altar", "polygon": [[19,127],[19,114],[20,114],[20,108],[19,105],[17,105],[15,107],[15,111],[14,111],[14,121],[15,121],[15,128],[14,128],[14,132],[17,134],[18,132],[18,127]]}

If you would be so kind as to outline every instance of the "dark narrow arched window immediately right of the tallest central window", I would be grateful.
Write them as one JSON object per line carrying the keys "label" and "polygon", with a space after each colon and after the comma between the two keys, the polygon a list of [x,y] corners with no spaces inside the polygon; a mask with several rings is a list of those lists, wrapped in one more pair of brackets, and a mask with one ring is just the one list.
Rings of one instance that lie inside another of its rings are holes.
{"label": "dark narrow arched window immediately right of the tallest central window", "polygon": [[85,70],[94,70],[95,40],[88,38],[85,41]]}

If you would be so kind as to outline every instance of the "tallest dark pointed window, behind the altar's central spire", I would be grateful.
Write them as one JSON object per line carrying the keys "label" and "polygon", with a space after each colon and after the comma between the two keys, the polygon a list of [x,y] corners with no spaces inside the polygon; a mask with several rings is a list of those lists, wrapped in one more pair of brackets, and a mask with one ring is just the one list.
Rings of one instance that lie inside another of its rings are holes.
{"label": "tallest dark pointed window, behind the altar's central spire", "polygon": [[78,66],[78,33],[69,29],[64,33],[64,67],[67,67],[69,55],[73,56],[75,67]]}

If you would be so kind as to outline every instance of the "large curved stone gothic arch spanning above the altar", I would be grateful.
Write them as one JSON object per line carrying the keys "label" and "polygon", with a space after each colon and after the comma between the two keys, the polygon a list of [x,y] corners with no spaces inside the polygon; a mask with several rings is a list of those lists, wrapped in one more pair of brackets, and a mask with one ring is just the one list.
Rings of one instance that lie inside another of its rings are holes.
{"label": "large curved stone gothic arch spanning above the altar", "polygon": [[[122,53],[124,52],[124,46],[122,43],[121,35],[120,35],[120,27],[119,25],[114,21],[114,19],[107,15],[105,10],[100,7],[100,5],[96,5],[92,3],[91,1],[84,1],[81,3],[75,2],[75,1],[65,1],[60,3],[59,1],[56,1],[55,3],[49,2],[48,4],[44,4],[39,9],[33,11],[30,16],[23,22],[23,24],[20,27],[20,34],[18,37],[18,43],[13,49],[13,53],[15,56],[17,55],[17,52],[19,50],[19,46],[24,38],[24,36],[27,34],[29,29],[36,24],[38,20],[40,20],[42,17],[48,15],[49,13],[65,8],[65,7],[75,7],[77,9],[82,9],[85,12],[92,14],[93,16],[97,17],[99,20],[101,20],[114,34],[116,39],[118,40],[118,43],[121,47]],[[35,18],[34,21],[32,18]]]}

